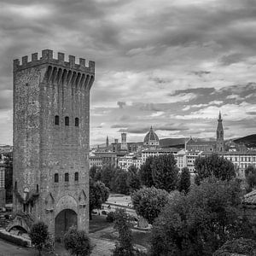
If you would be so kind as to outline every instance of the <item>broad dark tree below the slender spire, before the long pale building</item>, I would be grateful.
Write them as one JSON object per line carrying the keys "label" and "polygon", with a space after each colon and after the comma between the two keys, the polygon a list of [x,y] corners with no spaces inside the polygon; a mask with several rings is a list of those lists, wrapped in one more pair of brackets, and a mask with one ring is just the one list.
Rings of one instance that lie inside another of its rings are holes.
{"label": "broad dark tree below the slender spire, before the long pale building", "polygon": [[218,154],[211,154],[205,157],[197,157],[195,159],[195,172],[197,181],[206,177],[217,177],[222,180],[230,180],[236,177],[235,166],[230,160],[226,160]]}

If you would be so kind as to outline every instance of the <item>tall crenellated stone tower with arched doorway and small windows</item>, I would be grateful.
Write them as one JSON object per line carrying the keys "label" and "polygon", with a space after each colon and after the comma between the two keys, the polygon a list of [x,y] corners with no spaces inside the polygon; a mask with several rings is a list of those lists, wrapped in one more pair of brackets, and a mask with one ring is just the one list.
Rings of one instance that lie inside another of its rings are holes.
{"label": "tall crenellated stone tower with arched doorway and small windows", "polygon": [[14,224],[55,238],[89,226],[90,88],[95,62],[44,49],[14,61]]}

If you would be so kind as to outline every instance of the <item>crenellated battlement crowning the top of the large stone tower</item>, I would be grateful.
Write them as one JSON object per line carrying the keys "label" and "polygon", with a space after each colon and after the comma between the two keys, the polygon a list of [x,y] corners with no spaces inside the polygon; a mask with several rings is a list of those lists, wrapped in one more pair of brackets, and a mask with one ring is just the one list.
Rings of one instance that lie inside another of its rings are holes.
{"label": "crenellated battlement crowning the top of the large stone tower", "polygon": [[89,66],[85,66],[85,59],[79,58],[79,64],[75,63],[75,56],[68,55],[68,61],[65,61],[65,55],[58,52],[58,58],[53,58],[53,50],[43,49],[42,57],[38,59],[38,53],[32,54],[32,61],[28,61],[28,56],[23,56],[21,64],[19,59],[14,60],[14,70],[22,70],[30,67],[35,67],[42,64],[50,64],[61,66],[67,69],[75,69],[79,72],[95,73],[95,61],[89,61]]}

